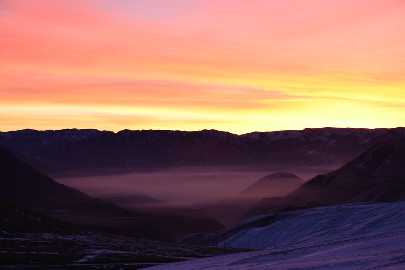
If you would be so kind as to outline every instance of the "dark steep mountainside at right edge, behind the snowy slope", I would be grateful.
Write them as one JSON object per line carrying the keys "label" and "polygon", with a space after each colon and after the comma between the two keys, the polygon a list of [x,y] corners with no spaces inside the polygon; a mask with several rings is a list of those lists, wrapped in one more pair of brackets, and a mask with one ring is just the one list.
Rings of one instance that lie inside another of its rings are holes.
{"label": "dark steep mountainside at right edge, behind the snowy slope", "polygon": [[288,197],[262,199],[244,218],[300,207],[405,200],[404,164],[405,138],[378,142],[338,170],[310,179]]}

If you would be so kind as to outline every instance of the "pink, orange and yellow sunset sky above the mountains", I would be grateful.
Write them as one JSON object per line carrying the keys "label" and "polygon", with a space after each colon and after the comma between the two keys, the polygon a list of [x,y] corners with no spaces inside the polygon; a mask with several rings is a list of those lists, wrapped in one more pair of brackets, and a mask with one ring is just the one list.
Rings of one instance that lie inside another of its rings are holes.
{"label": "pink, orange and yellow sunset sky above the mountains", "polygon": [[0,131],[405,126],[403,0],[0,0]]}

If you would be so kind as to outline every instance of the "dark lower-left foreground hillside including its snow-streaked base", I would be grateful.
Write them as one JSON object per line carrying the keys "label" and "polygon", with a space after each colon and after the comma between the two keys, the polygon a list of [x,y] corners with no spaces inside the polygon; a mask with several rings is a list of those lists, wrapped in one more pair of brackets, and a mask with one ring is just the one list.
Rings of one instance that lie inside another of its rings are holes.
{"label": "dark lower-left foreground hillside including its snow-streaked base", "polygon": [[0,199],[0,220],[0,267],[9,265],[12,269],[21,269],[18,267],[22,265],[30,265],[27,269],[52,270],[139,269],[241,251],[106,234],[74,226],[3,199]]}

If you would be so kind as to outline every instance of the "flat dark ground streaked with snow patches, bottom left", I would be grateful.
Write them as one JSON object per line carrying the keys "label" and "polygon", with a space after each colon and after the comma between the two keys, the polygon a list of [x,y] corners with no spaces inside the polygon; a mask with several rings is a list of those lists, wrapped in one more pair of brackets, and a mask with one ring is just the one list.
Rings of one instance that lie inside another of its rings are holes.
{"label": "flat dark ground streaked with snow patches, bottom left", "polygon": [[90,231],[0,231],[0,269],[140,269],[152,265],[240,252],[128,238]]}

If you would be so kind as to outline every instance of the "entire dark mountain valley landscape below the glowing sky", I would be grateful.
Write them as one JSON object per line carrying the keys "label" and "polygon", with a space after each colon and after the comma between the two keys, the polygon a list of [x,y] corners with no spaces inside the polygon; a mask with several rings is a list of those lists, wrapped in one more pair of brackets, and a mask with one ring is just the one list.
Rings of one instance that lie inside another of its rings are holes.
{"label": "entire dark mountain valley landscape below the glowing sky", "polygon": [[0,132],[0,267],[400,269],[404,130]]}

